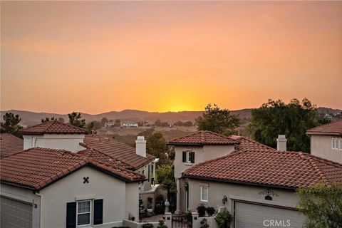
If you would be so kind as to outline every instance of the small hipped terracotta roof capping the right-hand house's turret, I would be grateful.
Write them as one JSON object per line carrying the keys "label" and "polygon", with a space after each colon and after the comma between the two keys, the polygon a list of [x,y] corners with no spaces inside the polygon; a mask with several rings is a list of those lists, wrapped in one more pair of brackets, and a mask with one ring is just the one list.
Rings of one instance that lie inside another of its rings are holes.
{"label": "small hipped terracotta roof capping the right-hand house's turret", "polygon": [[209,130],[200,130],[169,141],[169,145],[234,145],[237,140]]}

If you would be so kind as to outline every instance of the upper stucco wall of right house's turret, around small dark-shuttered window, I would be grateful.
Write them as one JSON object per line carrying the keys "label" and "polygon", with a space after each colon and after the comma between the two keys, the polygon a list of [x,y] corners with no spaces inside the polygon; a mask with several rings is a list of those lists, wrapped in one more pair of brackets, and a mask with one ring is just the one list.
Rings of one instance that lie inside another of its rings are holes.
{"label": "upper stucco wall of right house's turret, around small dark-shuttered window", "polygon": [[[187,150],[195,152],[195,163],[182,162],[182,152]],[[233,150],[234,145],[175,146],[175,178],[182,177],[182,173],[192,165],[228,155]]]}

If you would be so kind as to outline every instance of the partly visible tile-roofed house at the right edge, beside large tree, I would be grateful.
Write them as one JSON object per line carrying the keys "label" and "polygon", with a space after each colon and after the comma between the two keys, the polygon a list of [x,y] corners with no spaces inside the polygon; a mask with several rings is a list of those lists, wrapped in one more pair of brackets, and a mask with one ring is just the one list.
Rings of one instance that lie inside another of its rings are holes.
{"label": "partly visible tile-roofed house at the right edge, beside large tree", "polygon": [[342,164],[342,120],[306,131],[310,136],[311,155]]}

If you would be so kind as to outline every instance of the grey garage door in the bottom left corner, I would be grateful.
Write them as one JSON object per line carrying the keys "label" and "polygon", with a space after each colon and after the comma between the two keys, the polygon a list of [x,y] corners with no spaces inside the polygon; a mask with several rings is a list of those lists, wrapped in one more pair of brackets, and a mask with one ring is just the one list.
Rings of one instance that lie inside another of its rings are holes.
{"label": "grey garage door in the bottom left corner", "polygon": [[32,227],[32,204],[0,197],[1,228]]}

